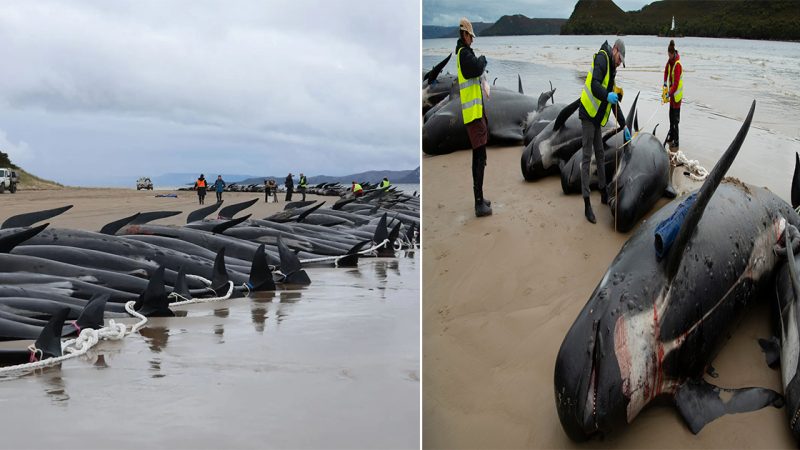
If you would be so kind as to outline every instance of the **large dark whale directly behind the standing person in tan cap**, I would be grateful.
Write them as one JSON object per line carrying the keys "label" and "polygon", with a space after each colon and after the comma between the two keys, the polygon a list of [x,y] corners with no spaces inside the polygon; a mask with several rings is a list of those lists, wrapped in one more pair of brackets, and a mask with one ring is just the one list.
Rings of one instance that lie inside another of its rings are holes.
{"label": "large dark whale directly behind the standing person in tan cap", "polygon": [[[490,97],[484,98],[483,105],[489,123],[489,143],[521,143],[528,114],[535,111],[537,105],[536,99],[523,93],[521,80],[517,92],[492,87]],[[461,116],[461,99],[451,93],[447,103],[422,125],[422,151],[429,155],[444,155],[469,148],[467,128]]]}

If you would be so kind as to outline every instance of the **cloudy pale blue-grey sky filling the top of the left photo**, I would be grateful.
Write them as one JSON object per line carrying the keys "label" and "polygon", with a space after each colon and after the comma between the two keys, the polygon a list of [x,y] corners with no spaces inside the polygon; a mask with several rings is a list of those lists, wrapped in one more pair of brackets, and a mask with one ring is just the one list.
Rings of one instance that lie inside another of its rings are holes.
{"label": "cloudy pale blue-grey sky filling the top of the left photo", "polygon": [[3,0],[0,150],[70,185],[413,169],[419,17],[414,1]]}

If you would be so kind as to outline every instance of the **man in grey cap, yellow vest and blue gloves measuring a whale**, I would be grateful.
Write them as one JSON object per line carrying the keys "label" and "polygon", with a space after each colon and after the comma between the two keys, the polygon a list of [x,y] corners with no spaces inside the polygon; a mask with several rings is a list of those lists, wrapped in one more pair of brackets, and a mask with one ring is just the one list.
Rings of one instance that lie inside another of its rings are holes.
{"label": "man in grey cap, yellow vest and blue gloves measuring a whale", "polygon": [[600,51],[594,54],[592,68],[589,69],[589,73],[586,75],[586,82],[581,91],[581,106],[578,113],[583,129],[581,190],[583,192],[584,214],[586,215],[586,220],[591,223],[597,223],[589,200],[589,193],[591,192],[589,189],[589,164],[592,160],[593,150],[595,161],[597,161],[597,187],[600,189],[600,199],[604,205],[608,204],[601,129],[608,121],[608,116],[612,110],[617,118],[617,124],[623,127],[625,142],[631,139],[631,132],[625,126],[625,116],[619,107],[619,94],[614,89],[614,78],[617,74],[617,67],[620,64],[625,67],[625,43],[622,42],[622,39],[617,39],[612,48],[608,45],[608,41],[605,41],[600,47]]}

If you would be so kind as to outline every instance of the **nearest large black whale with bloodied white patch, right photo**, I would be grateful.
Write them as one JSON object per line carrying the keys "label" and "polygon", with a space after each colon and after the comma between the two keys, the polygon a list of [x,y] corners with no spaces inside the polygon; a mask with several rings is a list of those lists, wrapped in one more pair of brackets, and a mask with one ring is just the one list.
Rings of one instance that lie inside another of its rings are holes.
{"label": "nearest large black whale with bloodied white patch, right photo", "polygon": [[[722,182],[754,110],[755,101],[696,200],[670,202],[631,236],[567,332],[554,388],[570,438],[585,440],[630,423],[662,395],[673,397],[694,432],[726,412],[780,401],[768,389],[721,391],[701,379],[747,303],[769,289],[778,225],[783,218],[800,223],[792,206],[769,190]],[[671,217],[676,210],[683,220]],[[667,219],[674,220],[667,230],[677,233],[674,240],[670,233],[656,240],[656,228]]]}

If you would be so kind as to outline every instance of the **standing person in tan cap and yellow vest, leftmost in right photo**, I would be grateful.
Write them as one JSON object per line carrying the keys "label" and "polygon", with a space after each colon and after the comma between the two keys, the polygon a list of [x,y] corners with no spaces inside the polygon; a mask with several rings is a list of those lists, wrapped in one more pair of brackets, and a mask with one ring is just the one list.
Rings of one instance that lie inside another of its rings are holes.
{"label": "standing person in tan cap and yellow vest, leftmost in right photo", "polygon": [[475,195],[475,215],[492,214],[491,202],[483,197],[483,171],[486,167],[486,144],[489,142],[489,125],[483,108],[481,75],[486,69],[486,57],[475,56],[472,41],[475,33],[466,17],[459,22],[460,37],[456,43],[456,68],[461,96],[461,115],[472,146],[472,191]]}

